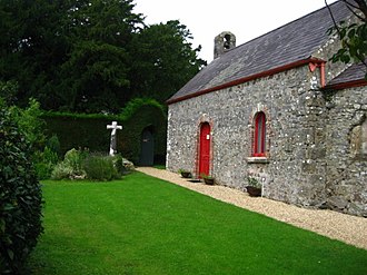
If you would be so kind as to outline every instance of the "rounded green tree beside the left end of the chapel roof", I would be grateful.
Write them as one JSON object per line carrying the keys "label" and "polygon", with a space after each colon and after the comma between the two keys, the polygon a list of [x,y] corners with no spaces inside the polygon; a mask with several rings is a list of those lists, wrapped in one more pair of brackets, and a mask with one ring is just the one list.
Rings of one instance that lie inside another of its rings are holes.
{"label": "rounded green tree beside the left end of the chapel roof", "polygon": [[141,97],[167,100],[205,65],[192,49],[190,31],[178,20],[151,24],[135,37],[131,89]]}

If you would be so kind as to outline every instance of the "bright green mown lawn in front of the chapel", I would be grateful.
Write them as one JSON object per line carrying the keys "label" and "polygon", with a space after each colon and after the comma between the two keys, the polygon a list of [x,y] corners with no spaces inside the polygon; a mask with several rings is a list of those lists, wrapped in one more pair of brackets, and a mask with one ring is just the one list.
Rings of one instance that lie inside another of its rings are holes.
{"label": "bright green mown lawn in front of the chapel", "polygon": [[367,274],[367,251],[131,174],[43,181],[33,274]]}

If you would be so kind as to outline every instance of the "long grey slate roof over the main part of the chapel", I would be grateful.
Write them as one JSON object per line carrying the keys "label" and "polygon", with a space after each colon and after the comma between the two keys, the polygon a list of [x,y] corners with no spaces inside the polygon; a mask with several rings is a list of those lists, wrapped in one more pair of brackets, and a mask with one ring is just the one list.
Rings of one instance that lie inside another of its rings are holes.
{"label": "long grey slate roof over the main part of the chapel", "polygon": [[[329,6],[338,22],[350,16],[341,1]],[[327,40],[327,30],[334,26],[325,7],[291,21],[264,36],[240,45],[201,69],[177,91],[167,104],[200,95],[250,76],[306,60]]]}

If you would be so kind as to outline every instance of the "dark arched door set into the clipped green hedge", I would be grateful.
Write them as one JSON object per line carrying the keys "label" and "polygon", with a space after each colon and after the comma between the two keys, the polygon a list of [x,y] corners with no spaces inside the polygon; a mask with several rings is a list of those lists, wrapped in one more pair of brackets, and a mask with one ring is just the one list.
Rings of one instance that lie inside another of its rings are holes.
{"label": "dark arched door set into the clipped green hedge", "polygon": [[140,166],[152,166],[155,161],[155,136],[152,127],[147,127],[141,132]]}

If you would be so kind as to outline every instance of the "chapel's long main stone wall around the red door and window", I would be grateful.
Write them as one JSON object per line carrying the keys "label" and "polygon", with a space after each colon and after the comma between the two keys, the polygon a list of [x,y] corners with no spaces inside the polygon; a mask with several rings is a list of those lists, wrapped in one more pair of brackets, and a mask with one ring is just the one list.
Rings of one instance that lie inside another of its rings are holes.
{"label": "chapel's long main stone wall around the red door and window", "polygon": [[[307,66],[169,106],[167,168],[197,171],[198,129],[212,130],[217,183],[245,189],[265,184],[265,196],[314,206],[326,202],[325,102],[319,71]],[[254,115],[267,116],[267,158],[251,157]]]}

